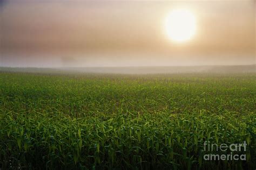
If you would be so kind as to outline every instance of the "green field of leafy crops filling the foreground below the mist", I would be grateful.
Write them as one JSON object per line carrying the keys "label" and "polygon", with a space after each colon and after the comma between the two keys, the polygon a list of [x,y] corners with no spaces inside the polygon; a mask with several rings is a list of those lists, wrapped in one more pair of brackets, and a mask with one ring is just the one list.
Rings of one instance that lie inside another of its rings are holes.
{"label": "green field of leafy crops filling the foreground below the mist", "polygon": [[[0,169],[256,168],[254,73],[2,72],[0,94]],[[246,160],[204,160],[205,141]]]}

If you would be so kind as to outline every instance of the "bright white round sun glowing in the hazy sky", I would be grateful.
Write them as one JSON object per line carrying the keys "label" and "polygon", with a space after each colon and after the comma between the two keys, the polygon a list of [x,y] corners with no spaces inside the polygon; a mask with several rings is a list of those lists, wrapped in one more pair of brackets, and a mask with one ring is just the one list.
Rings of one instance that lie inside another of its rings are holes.
{"label": "bright white round sun glowing in the hazy sky", "polygon": [[165,20],[165,29],[168,38],[173,41],[190,40],[196,34],[196,18],[189,10],[173,10]]}

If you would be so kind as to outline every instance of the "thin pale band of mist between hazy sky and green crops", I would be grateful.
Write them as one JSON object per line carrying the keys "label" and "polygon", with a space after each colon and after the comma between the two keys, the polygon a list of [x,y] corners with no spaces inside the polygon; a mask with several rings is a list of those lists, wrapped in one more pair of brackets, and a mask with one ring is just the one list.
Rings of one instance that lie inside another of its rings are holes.
{"label": "thin pale band of mist between hazy sky and green crops", "polygon": [[256,73],[256,65],[238,66],[140,66],[140,67],[0,67],[0,72],[23,73],[113,73],[113,74],[179,74],[179,73]]}

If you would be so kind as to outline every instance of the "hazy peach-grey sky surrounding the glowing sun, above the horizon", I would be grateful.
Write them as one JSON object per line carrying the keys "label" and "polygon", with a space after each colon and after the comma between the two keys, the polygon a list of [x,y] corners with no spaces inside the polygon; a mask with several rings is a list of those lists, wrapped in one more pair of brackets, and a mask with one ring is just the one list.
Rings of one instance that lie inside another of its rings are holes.
{"label": "hazy peach-grey sky surrounding the glowing sun, above the horizon", "polygon": [[[175,9],[196,18],[186,42],[166,35]],[[255,63],[255,1],[0,0],[0,66]]]}

